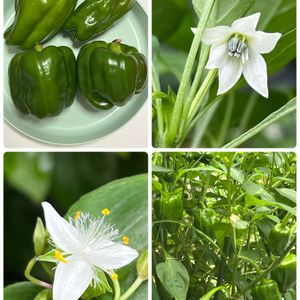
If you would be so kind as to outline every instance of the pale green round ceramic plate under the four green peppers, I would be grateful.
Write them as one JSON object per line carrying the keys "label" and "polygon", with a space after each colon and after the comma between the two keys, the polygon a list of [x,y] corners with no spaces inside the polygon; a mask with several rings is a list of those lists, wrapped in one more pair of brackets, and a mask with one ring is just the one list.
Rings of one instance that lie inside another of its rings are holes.
{"label": "pale green round ceramic plate under the four green peppers", "polygon": [[[78,4],[81,2],[83,0],[78,1]],[[6,29],[14,19],[14,1],[5,0],[4,10]],[[135,46],[147,56],[147,32],[147,15],[137,3],[119,23],[95,40],[111,42],[120,38],[123,43]],[[71,47],[75,55],[79,52],[79,47],[74,46],[70,36],[65,32],[58,33],[45,44],[48,45]],[[17,52],[12,47],[4,46],[4,117],[17,130],[39,141],[72,145],[99,139],[129,121],[147,99],[147,88],[145,88],[124,107],[99,111],[92,108],[82,99],[82,96],[77,94],[74,104],[58,117],[38,120],[24,116],[16,110],[11,100],[7,76],[9,62]]]}

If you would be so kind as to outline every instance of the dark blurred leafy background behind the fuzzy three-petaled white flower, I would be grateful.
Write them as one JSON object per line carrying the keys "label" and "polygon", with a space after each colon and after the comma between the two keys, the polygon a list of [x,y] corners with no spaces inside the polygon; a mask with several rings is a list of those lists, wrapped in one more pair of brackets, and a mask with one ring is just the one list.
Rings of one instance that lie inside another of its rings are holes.
{"label": "dark blurred leafy background behind the fuzzy three-petaled white flower", "polygon": [[[84,206],[83,202],[87,205],[85,210],[91,213],[95,209],[99,211],[106,205],[118,212],[110,217],[112,222],[124,231],[124,234],[130,236],[132,225],[139,228],[133,230],[132,246],[137,250],[144,249],[147,244],[147,176],[127,176],[146,173],[147,164],[146,153],[6,153],[4,156],[4,285],[25,279],[24,269],[34,255],[32,235],[36,218],[43,216],[40,205],[42,201],[51,202],[61,215],[66,214],[70,206],[79,198],[80,201],[72,206],[71,212],[72,209],[77,210],[76,206],[78,208]],[[111,185],[101,188],[104,184],[119,178],[124,178],[119,182],[123,185],[123,189],[118,187],[118,182],[115,185],[111,183],[113,189],[110,188]],[[132,187],[133,190],[130,190]],[[127,193],[124,192],[125,188]],[[93,190],[95,191],[91,192]],[[90,194],[81,198],[87,193]],[[95,198],[97,194],[99,197]],[[111,203],[117,203],[117,199],[120,199],[118,204],[112,206]],[[137,200],[139,205],[136,205]],[[123,209],[119,207],[120,205]],[[133,205],[136,205],[135,209],[132,209]],[[138,218],[135,215],[137,211],[139,211]],[[115,219],[120,217],[120,213],[123,214],[121,223]],[[134,269],[133,263],[130,268],[122,271],[124,274],[120,274],[121,280],[126,277],[126,280],[123,280],[123,288],[132,283]],[[40,267],[35,268],[34,274],[38,278],[49,281]],[[127,276],[128,274],[131,276]],[[24,299],[33,299],[30,291],[37,292],[38,289],[24,283],[21,290],[22,297],[26,296],[26,291],[31,295],[31,298]],[[145,291],[144,284],[139,292]],[[13,293],[12,295],[16,297],[14,291],[8,290],[7,293],[5,294],[7,299],[16,299],[9,298],[9,293]]]}

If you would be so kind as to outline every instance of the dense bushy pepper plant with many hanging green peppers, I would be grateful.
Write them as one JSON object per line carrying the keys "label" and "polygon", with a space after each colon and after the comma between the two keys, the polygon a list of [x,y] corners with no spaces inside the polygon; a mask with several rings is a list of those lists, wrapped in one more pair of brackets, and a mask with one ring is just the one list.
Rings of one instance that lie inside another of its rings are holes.
{"label": "dense bushy pepper plant with many hanging green peppers", "polygon": [[153,299],[296,299],[296,155],[153,154]]}

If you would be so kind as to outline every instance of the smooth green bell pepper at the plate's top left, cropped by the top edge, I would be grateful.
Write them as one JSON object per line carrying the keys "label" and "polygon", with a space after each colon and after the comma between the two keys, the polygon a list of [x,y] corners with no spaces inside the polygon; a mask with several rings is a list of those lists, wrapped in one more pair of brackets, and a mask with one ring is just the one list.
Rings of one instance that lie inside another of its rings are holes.
{"label": "smooth green bell pepper at the plate's top left, cropped by the top edge", "polygon": [[64,25],[77,0],[16,0],[16,17],[6,30],[7,45],[31,49],[55,35]]}

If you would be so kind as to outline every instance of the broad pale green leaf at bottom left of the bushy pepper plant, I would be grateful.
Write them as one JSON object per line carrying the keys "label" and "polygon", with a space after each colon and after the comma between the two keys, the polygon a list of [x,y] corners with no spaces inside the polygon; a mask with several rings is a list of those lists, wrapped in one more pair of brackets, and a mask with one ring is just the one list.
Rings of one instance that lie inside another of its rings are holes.
{"label": "broad pale green leaf at bottom left of the bushy pepper plant", "polygon": [[157,276],[168,293],[176,300],[185,300],[190,276],[185,266],[176,259],[167,261],[156,266]]}

